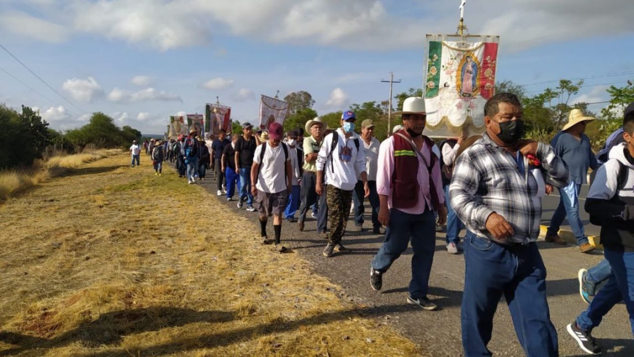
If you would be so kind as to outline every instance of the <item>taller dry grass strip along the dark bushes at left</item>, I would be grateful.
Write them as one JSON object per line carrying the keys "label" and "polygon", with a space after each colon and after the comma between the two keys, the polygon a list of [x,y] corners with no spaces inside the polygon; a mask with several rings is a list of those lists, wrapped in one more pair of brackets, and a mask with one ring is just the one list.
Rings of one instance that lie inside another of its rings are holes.
{"label": "taller dry grass strip along the dark bushes at left", "polygon": [[0,170],[0,200],[20,194],[37,186],[51,176],[68,173],[67,169],[77,168],[101,158],[121,152],[119,149],[84,152],[67,156],[54,156],[45,163],[36,163],[30,170]]}

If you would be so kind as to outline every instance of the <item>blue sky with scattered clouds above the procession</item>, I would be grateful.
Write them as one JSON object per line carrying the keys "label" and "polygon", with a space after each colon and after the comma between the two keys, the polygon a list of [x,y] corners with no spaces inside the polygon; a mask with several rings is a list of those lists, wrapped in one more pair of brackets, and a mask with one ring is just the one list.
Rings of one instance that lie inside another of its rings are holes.
{"label": "blue sky with scattered clouds above the procession", "polygon": [[[205,102],[256,121],[259,95],[306,90],[325,114],[420,87],[425,34],[455,32],[453,0],[0,0],[0,102],[37,107],[53,128],[102,111],[118,125],[162,133]],[[499,80],[587,79],[573,101],[607,99],[634,79],[631,0],[468,0],[471,33],[500,36]],[[556,83],[527,86],[529,94]],[[593,105],[600,110],[602,105]]]}

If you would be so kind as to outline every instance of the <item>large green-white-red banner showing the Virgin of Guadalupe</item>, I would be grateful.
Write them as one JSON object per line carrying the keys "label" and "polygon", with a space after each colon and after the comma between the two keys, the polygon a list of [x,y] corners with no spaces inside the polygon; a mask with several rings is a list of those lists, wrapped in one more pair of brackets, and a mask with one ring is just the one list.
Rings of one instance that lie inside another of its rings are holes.
{"label": "large green-white-red banner showing the Virgin of Guadalupe", "polygon": [[[434,36],[432,36],[434,37]],[[488,42],[430,41],[425,81],[425,135],[484,132],[484,104],[495,94],[498,37]]]}

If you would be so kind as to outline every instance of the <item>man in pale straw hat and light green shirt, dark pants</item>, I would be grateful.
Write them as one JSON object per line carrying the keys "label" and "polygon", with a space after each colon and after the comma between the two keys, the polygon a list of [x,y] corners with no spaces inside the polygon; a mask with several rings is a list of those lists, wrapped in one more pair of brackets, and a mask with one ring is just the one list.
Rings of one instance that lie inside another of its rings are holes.
{"label": "man in pale straw hat and light green shirt, dark pants", "polygon": [[322,238],[327,238],[326,226],[328,221],[328,207],[326,205],[326,195],[317,195],[317,157],[320,152],[321,142],[323,141],[323,133],[327,130],[328,125],[321,121],[320,118],[314,118],[306,123],[306,132],[311,136],[304,138],[304,173],[302,173],[302,182],[299,187],[299,231],[304,231],[304,221],[306,221],[306,213],[308,209],[318,203],[319,210],[317,217],[317,234]]}

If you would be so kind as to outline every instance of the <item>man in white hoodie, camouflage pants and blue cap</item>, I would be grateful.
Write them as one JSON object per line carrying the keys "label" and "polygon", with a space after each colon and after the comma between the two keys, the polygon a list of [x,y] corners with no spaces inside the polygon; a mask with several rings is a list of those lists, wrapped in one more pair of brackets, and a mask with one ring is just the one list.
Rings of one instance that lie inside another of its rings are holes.
{"label": "man in white hoodie, camouflage pants and blue cap", "polygon": [[[341,128],[324,138],[317,158],[317,182],[315,190],[319,196],[326,195],[330,234],[328,244],[323,250],[325,257],[332,257],[333,250],[349,253],[341,244],[350,215],[352,195],[357,177],[363,181],[363,196],[370,196],[368,174],[365,171],[365,150],[354,133],[356,117],[353,111],[344,111],[341,116]],[[323,172],[327,192],[323,190]],[[323,210],[320,205],[320,211]]]}

